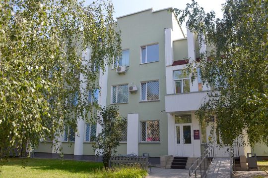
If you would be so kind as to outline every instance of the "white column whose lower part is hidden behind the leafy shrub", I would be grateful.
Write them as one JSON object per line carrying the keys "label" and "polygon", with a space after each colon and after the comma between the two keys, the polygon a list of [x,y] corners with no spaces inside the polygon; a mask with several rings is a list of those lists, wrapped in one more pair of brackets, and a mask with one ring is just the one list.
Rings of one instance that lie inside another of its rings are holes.
{"label": "white column whose lower part is hidden behind the leafy shrub", "polygon": [[[107,82],[108,82],[108,65],[105,66],[104,71],[100,69],[100,76],[99,76],[100,95],[98,99],[98,104],[101,107],[106,106],[106,102],[107,102]],[[97,135],[101,132],[101,129],[102,129],[101,126],[97,123],[97,127],[96,127]],[[98,151],[99,150],[96,150],[95,154],[97,154]]]}

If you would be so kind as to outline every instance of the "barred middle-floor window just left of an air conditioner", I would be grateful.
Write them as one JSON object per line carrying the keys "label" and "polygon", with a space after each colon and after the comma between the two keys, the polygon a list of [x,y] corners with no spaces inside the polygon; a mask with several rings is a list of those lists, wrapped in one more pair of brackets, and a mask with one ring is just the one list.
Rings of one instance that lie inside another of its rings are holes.
{"label": "barred middle-floor window just left of an air conditioner", "polygon": [[119,85],[112,87],[112,103],[129,102],[129,86]]}

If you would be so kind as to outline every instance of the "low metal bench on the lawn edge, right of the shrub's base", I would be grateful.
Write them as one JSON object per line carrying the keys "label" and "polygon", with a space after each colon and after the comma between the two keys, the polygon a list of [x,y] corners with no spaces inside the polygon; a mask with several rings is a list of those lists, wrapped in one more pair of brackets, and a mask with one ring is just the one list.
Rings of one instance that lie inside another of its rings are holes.
{"label": "low metal bench on the lawn edge, right of the shrub's base", "polygon": [[148,170],[148,158],[140,156],[111,156],[109,160],[109,168],[120,166],[135,166],[139,165],[141,169]]}

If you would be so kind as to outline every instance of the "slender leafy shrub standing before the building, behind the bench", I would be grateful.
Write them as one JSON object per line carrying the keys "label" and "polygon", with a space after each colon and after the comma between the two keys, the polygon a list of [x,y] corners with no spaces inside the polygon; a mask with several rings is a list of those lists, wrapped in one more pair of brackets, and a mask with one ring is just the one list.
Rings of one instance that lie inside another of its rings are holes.
{"label": "slender leafy shrub standing before the building, behind the bench", "polygon": [[97,150],[97,155],[103,155],[103,164],[107,168],[112,154],[122,138],[122,131],[126,129],[127,120],[119,114],[118,107],[107,106],[100,110],[97,123],[101,126],[101,132],[97,135],[92,147]]}

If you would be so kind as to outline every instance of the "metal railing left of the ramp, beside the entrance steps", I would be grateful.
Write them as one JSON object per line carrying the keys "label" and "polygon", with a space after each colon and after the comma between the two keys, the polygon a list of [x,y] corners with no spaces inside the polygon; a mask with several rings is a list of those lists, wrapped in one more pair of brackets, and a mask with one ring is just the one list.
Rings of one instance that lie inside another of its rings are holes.
{"label": "metal railing left of the ramp, beside the entrance steps", "polygon": [[189,168],[189,177],[195,174],[195,178],[197,178],[197,174],[199,174],[200,171],[201,178],[204,178],[207,170],[209,169],[210,163],[215,158],[214,147],[208,143],[204,143],[203,146],[205,147],[205,150]]}

